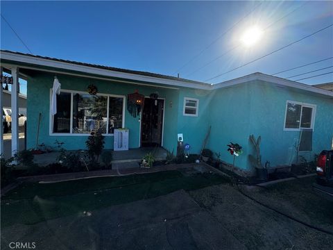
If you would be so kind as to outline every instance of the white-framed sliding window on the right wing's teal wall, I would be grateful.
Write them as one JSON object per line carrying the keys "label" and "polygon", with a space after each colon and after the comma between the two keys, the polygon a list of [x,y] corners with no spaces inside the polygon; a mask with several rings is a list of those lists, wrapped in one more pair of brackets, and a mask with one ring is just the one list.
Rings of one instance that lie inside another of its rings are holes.
{"label": "white-framed sliding window on the right wing's teal wall", "polygon": [[316,105],[287,101],[284,130],[298,131],[300,128],[314,128]]}

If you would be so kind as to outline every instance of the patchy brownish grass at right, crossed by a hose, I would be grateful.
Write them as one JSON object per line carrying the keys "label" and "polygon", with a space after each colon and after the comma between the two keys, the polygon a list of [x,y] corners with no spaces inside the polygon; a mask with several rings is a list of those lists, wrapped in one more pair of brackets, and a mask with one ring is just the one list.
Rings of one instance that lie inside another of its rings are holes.
{"label": "patchy brownish grass at right, crossed by a hose", "polygon": [[[333,232],[333,203],[317,197],[314,178],[301,178],[252,188],[243,192],[282,213]],[[238,191],[217,185],[189,191],[201,207],[232,233],[247,249],[333,249],[333,235],[322,233],[275,213]]]}

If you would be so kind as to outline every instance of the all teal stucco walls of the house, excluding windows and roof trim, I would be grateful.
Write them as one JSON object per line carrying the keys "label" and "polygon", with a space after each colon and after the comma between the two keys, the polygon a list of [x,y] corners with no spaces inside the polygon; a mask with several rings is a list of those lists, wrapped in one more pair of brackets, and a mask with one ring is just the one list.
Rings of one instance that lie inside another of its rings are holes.
{"label": "all teal stucco walls of the house, excluding windows and roof trim", "polygon": [[[227,151],[229,142],[243,147],[243,154],[236,158],[239,169],[250,171],[253,167],[248,154],[254,153],[249,135],[262,136],[262,162],[269,161],[271,166],[290,165],[296,160],[295,143],[299,131],[284,131],[284,117],[287,100],[316,105],[313,135],[313,151],[303,153],[307,160],[314,153],[330,149],[333,135],[333,99],[320,94],[281,88],[263,81],[249,81],[229,88],[217,90],[198,90],[193,88],[159,88],[147,85],[103,81],[76,76],[58,76],[62,90],[86,91],[87,85],[94,84],[100,93],[126,96],[139,90],[149,96],[158,92],[165,99],[163,147],[176,153],[177,134],[184,135],[185,143],[191,145],[190,153],[200,153],[208,128],[210,137],[206,148],[221,153],[221,160],[232,163],[233,156]],[[50,90],[53,74],[40,73],[28,79],[28,128],[27,147],[34,148],[37,136],[37,122],[40,122],[39,144],[54,146],[56,140],[65,142],[66,149],[85,149],[87,135],[50,135]],[[199,100],[198,117],[183,115],[184,98]],[[125,127],[130,130],[130,148],[139,147],[139,116],[133,117],[125,110]],[[105,137],[105,149],[113,148],[113,136]]]}

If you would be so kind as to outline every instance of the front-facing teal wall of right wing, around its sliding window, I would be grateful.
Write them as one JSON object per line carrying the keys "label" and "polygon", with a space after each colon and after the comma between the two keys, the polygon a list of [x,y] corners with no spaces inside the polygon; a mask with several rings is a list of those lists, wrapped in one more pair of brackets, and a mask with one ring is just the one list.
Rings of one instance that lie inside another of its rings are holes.
{"label": "front-facing teal wall of right wing, around its sliding window", "polygon": [[333,137],[333,99],[319,94],[280,88],[258,81],[251,86],[250,133],[262,136],[262,162],[271,166],[296,163],[296,147],[300,131],[284,131],[287,101],[316,105],[312,151],[300,152],[307,161],[314,154],[331,149]]}

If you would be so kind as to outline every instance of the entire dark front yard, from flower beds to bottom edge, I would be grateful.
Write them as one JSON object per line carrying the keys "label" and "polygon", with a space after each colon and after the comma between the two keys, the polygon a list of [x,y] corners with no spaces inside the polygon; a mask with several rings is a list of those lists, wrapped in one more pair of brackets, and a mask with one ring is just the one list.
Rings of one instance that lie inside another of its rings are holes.
{"label": "entire dark front yard, from flower beds to bottom edge", "polygon": [[[241,190],[333,231],[333,203],[314,194],[313,182]],[[193,169],[26,183],[3,197],[1,213],[1,249],[17,241],[36,242],[36,249],[333,249],[332,235],[259,205],[221,176]]]}

